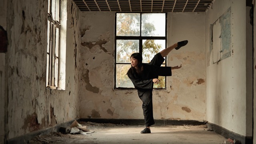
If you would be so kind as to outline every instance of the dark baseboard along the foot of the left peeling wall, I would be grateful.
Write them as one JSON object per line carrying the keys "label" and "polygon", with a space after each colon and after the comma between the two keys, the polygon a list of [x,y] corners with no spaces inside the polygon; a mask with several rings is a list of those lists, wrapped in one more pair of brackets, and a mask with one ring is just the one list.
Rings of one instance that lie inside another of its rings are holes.
{"label": "dark baseboard along the foot of the left peeling wall", "polygon": [[[77,120],[77,119],[75,119],[75,120]],[[31,140],[32,138],[34,138],[35,136],[49,134],[50,132],[58,132],[58,129],[60,127],[70,126],[72,124],[72,122],[74,122],[74,120],[71,120],[71,121],[68,121],[68,122],[65,122],[62,124],[57,124],[56,126],[41,129],[41,130],[31,132],[28,134],[24,134],[22,136],[11,138],[11,139],[7,140],[7,144],[27,144],[28,141]]]}

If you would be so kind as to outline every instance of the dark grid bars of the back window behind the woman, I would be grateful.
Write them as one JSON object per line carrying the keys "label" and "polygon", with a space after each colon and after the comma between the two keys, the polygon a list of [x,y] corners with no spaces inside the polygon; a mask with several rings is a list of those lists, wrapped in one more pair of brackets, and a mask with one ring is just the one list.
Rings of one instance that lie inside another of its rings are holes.
{"label": "dark grid bars of the back window behind the woman", "polygon": [[[117,12],[118,13],[118,12]],[[117,14],[116,13],[116,14]],[[145,14],[145,13],[144,13]],[[167,14],[165,13],[165,20],[167,18]],[[115,17],[115,22],[116,17]],[[116,87],[116,76],[117,76],[117,65],[119,64],[125,64],[125,65],[130,65],[130,63],[126,62],[116,62],[116,41],[117,40],[139,40],[139,53],[142,54],[142,40],[165,40],[165,48],[166,48],[166,43],[167,43],[167,21],[165,21],[165,36],[141,36],[142,32],[142,13],[140,13],[140,36],[116,36],[116,23],[115,23],[115,57],[114,57],[114,89],[134,89],[134,88],[126,88],[126,87]],[[130,58],[130,56],[129,56]],[[167,66],[166,63],[167,57],[165,57],[165,62],[162,64],[164,66]],[[164,88],[154,88],[154,90],[166,90],[166,77],[165,77],[165,87]]]}

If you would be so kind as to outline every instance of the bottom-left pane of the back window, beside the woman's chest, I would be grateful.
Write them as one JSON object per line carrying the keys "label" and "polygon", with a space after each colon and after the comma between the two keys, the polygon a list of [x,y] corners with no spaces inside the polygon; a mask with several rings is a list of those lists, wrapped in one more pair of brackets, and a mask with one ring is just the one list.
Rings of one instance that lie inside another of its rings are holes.
{"label": "bottom-left pane of the back window, beside the woman's chest", "polygon": [[130,64],[116,64],[116,88],[134,88],[132,81],[126,75]]}

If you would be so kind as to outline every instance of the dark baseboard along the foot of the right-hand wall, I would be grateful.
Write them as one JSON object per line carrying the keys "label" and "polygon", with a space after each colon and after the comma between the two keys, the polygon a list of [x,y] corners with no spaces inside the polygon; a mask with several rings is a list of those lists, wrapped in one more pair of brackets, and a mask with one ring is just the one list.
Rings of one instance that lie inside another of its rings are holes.
{"label": "dark baseboard along the foot of the right-hand wall", "polygon": [[252,136],[242,136],[240,134],[236,134],[230,130],[227,130],[226,128],[223,128],[221,126],[218,126],[216,124],[207,123],[207,128],[210,130],[213,130],[217,134],[220,134],[224,136],[225,138],[230,138],[232,140],[239,140],[241,144],[252,144]]}

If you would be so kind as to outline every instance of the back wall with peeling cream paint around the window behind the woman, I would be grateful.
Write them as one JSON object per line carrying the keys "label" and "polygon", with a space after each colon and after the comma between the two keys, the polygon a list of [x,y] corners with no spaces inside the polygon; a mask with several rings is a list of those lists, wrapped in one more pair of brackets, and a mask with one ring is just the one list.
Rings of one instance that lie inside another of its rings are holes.
{"label": "back wall with peeling cream paint around the window behind the woman", "polygon": [[[114,12],[81,12],[80,118],[144,118],[136,90],[113,90],[114,20]],[[153,91],[155,119],[204,120],[204,30],[204,14],[168,13],[168,46],[189,43],[168,55],[169,66],[182,68],[167,78],[168,90]]]}

